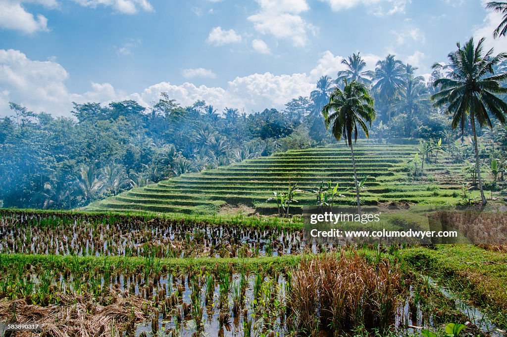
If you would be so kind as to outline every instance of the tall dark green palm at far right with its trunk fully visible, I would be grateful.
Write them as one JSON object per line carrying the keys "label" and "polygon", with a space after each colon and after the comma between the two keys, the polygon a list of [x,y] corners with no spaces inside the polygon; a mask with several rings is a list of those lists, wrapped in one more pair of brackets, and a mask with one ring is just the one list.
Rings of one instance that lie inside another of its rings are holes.
{"label": "tall dark green palm at far right with its trunk fully visible", "polygon": [[433,69],[447,70],[447,76],[437,79],[433,85],[440,87],[440,92],[431,96],[436,100],[434,106],[447,106],[445,112],[452,115],[452,128],[458,125],[461,132],[464,131],[465,119],[472,124],[474,134],[474,147],[476,155],[477,178],[481,190],[482,204],[486,204],[486,197],[482,187],[481,171],[479,165],[479,149],[477,146],[476,120],[479,127],[486,125],[493,129],[490,115],[505,123],[507,104],[496,95],[507,93],[507,88],[500,86],[500,82],[507,79],[507,73],[494,74],[493,67],[507,58],[507,53],[492,56],[493,49],[487,53],[483,51],[484,37],[479,40],[477,46],[474,38],[470,38],[461,47],[456,44],[457,51],[448,55],[449,64],[436,63]]}

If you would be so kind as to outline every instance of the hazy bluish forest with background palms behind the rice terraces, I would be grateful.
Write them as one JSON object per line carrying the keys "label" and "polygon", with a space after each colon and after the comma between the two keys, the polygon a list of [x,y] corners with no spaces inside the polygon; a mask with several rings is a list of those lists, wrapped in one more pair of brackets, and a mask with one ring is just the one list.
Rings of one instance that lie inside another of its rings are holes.
{"label": "hazy bluish forest with background palms behind the rice terraces", "polygon": [[[182,107],[165,93],[150,108],[135,101],[75,103],[74,117],[55,118],[11,103],[12,115],[0,119],[0,206],[75,208],[183,173],[335,141],[321,110],[343,79],[372,92],[373,141],[443,138],[454,144],[470,131],[467,124],[464,134],[451,132],[450,117],[430,100],[441,70],[426,81],[394,55],[377,62],[374,71],[366,70],[359,53],[342,63],[346,70],[335,79],[322,76],[315,91],[287,102],[282,111],[217,111],[204,101]],[[496,70],[505,69],[503,61]]]}

